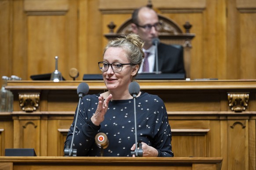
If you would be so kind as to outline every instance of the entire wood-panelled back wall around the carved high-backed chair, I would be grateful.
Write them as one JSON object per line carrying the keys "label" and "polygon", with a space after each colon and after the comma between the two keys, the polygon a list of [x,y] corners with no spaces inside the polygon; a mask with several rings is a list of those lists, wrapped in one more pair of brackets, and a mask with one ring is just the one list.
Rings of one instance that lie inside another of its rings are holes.
{"label": "entire wood-panelled back wall around the carved high-backed chair", "polygon": [[[1,0],[0,76],[29,80],[51,73],[55,56],[59,71],[69,78],[75,67],[83,74],[99,74],[107,43],[115,30],[147,0]],[[190,78],[256,78],[256,3],[254,0],[152,0],[154,9],[184,31],[190,21],[195,33]]]}

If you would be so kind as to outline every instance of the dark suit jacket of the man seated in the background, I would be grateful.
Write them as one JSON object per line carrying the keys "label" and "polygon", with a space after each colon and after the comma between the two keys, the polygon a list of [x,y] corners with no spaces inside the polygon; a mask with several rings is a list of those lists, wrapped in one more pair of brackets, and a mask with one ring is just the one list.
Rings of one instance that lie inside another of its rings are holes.
{"label": "dark suit jacket of the man seated in the background", "polygon": [[[158,52],[158,71],[162,73],[186,73],[183,62],[183,47],[159,43]],[[156,71],[156,61],[154,66]]]}

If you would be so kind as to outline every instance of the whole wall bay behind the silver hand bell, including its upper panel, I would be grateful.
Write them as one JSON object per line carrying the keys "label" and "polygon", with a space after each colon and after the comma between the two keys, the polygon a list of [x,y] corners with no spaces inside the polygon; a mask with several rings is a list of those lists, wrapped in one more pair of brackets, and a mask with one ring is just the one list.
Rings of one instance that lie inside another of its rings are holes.
{"label": "whole wall bay behind the silver hand bell, including its upper panel", "polygon": [[[77,67],[77,1],[14,1],[13,73],[30,79],[33,74],[55,70],[69,78],[69,69]],[[17,49],[16,49],[17,48]],[[22,70],[22,71],[21,71]]]}

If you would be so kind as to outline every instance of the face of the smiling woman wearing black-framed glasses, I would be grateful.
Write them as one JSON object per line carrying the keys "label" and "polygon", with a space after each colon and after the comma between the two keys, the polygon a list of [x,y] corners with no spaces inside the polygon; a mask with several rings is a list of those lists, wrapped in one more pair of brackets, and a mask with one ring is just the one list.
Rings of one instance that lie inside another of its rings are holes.
{"label": "face of the smiling woman wearing black-framed glasses", "polygon": [[[104,54],[103,61],[109,64],[112,64],[114,62],[118,62],[121,64],[130,63],[126,51],[120,47],[108,48]],[[112,70],[112,67],[109,66],[107,71],[102,72],[106,88],[110,91],[124,92],[128,89],[130,82],[132,82],[132,77],[136,74],[138,67],[138,65],[123,65],[122,70],[118,73],[115,73]]]}

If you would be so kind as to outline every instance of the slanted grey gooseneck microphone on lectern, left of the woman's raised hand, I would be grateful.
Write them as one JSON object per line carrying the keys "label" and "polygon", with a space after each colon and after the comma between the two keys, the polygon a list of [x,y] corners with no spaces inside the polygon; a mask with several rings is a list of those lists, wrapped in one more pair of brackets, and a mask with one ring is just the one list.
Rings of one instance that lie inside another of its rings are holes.
{"label": "slanted grey gooseneck microphone on lectern, left of the woman's raised hand", "polygon": [[78,112],[79,112],[81,99],[85,95],[87,95],[88,91],[89,91],[89,86],[88,86],[87,83],[80,83],[77,87],[77,94],[78,94],[78,97],[79,97],[79,102],[78,102],[78,106],[77,106],[77,113],[76,113],[76,118],[75,118],[74,131],[73,131],[70,147],[69,147],[69,145],[67,145],[67,147],[64,149],[64,155],[65,156],[77,156],[77,149],[73,149],[75,130],[76,130],[76,127],[77,127],[77,117],[78,117]]}

